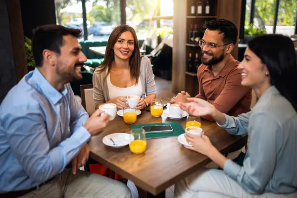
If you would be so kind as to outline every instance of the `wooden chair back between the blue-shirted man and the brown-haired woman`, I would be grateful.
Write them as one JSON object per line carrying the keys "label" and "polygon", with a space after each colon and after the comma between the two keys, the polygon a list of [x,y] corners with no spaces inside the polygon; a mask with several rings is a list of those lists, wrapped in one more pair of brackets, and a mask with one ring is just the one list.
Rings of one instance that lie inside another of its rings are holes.
{"label": "wooden chair back between the blue-shirted man and the brown-haired woman", "polygon": [[90,116],[95,112],[93,99],[93,85],[81,85],[80,92],[82,98],[82,105]]}

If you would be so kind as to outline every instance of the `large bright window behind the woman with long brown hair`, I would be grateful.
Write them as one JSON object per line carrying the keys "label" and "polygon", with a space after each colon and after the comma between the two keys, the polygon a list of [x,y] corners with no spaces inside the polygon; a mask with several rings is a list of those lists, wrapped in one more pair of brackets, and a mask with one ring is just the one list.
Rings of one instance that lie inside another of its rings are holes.
{"label": "large bright window behind the woman with long brown hair", "polygon": [[121,23],[121,2],[126,3],[122,9],[126,24],[136,30],[139,40],[145,40],[156,32],[172,33],[173,0],[55,0],[56,22],[84,31],[85,15],[88,32],[85,39],[107,41],[113,28]]}

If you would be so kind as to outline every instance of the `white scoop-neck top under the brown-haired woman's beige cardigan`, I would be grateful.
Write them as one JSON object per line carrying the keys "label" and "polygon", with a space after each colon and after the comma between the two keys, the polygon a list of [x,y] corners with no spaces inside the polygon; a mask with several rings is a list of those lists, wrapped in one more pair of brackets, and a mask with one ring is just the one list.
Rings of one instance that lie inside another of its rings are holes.
{"label": "white scoop-neck top under the brown-haired woman's beige cardigan", "polygon": [[142,97],[143,92],[142,92],[142,84],[140,80],[138,81],[137,85],[133,85],[131,87],[126,87],[126,88],[120,88],[112,85],[109,74],[106,80],[107,80],[107,87],[108,87],[110,99],[114,99],[119,96],[130,96],[130,95]]}

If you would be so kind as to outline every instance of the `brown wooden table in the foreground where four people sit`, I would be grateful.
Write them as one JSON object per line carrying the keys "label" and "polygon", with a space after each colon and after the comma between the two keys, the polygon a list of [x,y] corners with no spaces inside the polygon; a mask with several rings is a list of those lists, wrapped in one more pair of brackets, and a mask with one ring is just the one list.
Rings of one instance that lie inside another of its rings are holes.
{"label": "brown wooden table in the foreground where four people sit", "polygon": [[[164,115],[156,118],[152,117],[150,112],[142,111],[135,124],[172,121],[174,120]],[[185,128],[186,118],[178,122]],[[201,128],[222,153],[240,149],[247,142],[247,136],[231,136],[213,122],[201,119]],[[177,137],[148,139],[144,154],[133,154],[129,146],[111,148],[102,143],[103,137],[108,134],[129,131],[129,125],[117,115],[108,123],[104,132],[91,139],[91,157],[153,195],[162,193],[175,182],[210,162],[205,155],[184,148],[177,141]]]}

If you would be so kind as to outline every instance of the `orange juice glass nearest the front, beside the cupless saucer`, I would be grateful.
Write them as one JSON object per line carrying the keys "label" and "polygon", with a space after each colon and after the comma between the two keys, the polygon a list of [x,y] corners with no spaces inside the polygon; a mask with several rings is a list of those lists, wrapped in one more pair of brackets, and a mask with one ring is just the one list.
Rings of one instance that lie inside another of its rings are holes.
{"label": "orange juice glass nearest the front, beside the cupless saucer", "polygon": [[144,153],[147,149],[147,138],[145,130],[132,129],[131,135],[134,137],[134,140],[129,144],[131,152],[136,154]]}

